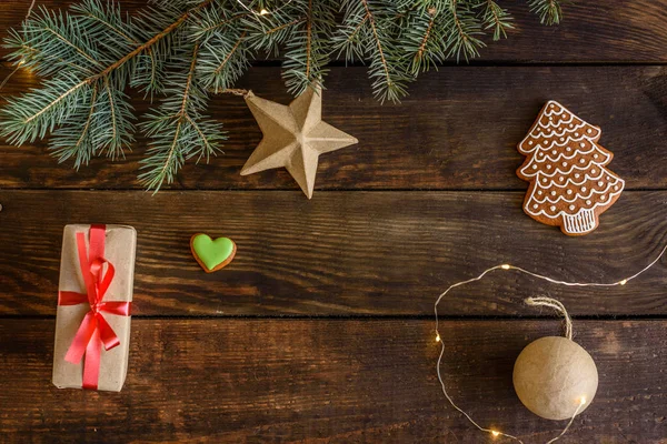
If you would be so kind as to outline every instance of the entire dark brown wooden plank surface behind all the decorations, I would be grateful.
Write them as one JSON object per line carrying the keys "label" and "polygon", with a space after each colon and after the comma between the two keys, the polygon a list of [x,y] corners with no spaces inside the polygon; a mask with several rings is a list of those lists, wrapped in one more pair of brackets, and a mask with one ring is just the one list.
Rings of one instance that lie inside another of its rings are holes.
{"label": "entire dark brown wooden plank surface behind all the decorations", "polygon": [[[28,3],[0,3],[2,36]],[[504,262],[616,281],[667,242],[667,1],[577,1],[551,28],[524,1],[505,4],[517,18],[509,40],[422,75],[400,105],[374,101],[365,68],[331,69],[325,120],[360,142],[321,158],[312,201],[286,171],[239,175],[261,134],[235,97],[211,108],[230,131],[226,154],[188,164],[157,195],[136,181],[142,138],[127,160],[79,172],[44,142],[1,141],[0,442],[489,442],[440,392],[438,294]],[[37,82],[21,72],[2,94]],[[290,100],[279,62],[239,87]],[[549,99],[601,127],[627,183],[583,238],[521,210],[515,147]],[[77,222],[139,233],[121,393],[50,382],[62,228]],[[232,238],[232,265],[205,274],[189,252],[196,232]],[[452,293],[441,305],[451,395],[527,444],[560,432],[511,386],[519,351],[559,333],[551,313],[521,304],[548,294],[575,316],[600,377],[561,442],[667,443],[666,263],[610,290],[504,273]]]}

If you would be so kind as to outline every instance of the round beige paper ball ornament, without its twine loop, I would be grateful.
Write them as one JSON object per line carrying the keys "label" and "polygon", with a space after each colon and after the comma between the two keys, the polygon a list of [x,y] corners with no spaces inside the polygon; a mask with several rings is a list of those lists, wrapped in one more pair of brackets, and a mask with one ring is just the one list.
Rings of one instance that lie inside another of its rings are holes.
{"label": "round beige paper ball ornament, without its twine loop", "polygon": [[531,342],[514,367],[519,400],[547,420],[569,420],[581,413],[593,401],[597,384],[593,357],[567,337],[547,336]]}

